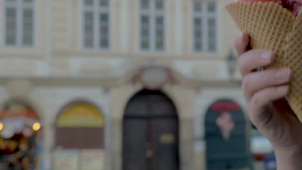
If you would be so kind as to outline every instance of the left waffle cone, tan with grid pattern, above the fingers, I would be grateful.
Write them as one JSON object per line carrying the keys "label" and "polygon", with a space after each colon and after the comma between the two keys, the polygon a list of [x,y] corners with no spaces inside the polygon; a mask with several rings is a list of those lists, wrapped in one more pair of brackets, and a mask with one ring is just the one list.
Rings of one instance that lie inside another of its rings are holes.
{"label": "left waffle cone, tan with grid pattern, above the fingers", "polygon": [[276,53],[274,64],[267,69],[284,65],[286,36],[291,31],[295,16],[275,2],[233,2],[227,10],[239,29],[247,32],[253,49],[267,49]]}

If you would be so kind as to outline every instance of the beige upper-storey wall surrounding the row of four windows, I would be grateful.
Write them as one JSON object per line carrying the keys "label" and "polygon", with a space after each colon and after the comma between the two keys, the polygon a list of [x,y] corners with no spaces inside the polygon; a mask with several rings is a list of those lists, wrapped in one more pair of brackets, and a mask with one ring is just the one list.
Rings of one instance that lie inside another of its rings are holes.
{"label": "beige upper-storey wall surrounding the row of four windows", "polygon": [[[13,58],[17,61],[28,59],[28,62],[1,61],[1,67],[8,67],[5,73],[22,70],[28,75],[37,74],[36,58],[50,67],[46,76],[67,75],[70,59],[81,58],[112,58],[130,60],[150,60],[161,63],[162,60],[173,63],[175,59],[199,59],[211,62],[224,62],[232,48],[234,36],[238,29],[225,9],[232,0],[218,1],[218,43],[216,54],[192,52],[192,13],[191,0],[166,0],[166,35],[167,49],[164,53],[143,53],[139,50],[138,41],[138,0],[111,0],[111,44],[109,50],[86,50],[81,46],[82,35],[82,0],[36,0],[37,1],[37,47],[34,49],[3,48],[0,43],[0,57]],[[0,0],[3,3],[3,0]],[[49,6],[50,5],[50,6]],[[3,12],[0,12],[2,23]],[[124,31],[128,30],[128,31]],[[49,32],[51,31],[51,32]],[[0,27],[0,40],[3,38]],[[126,34],[126,35],[125,35]],[[17,56],[17,58],[15,58]],[[1,59],[0,58],[0,59]],[[35,61],[34,61],[35,60]],[[32,62],[31,62],[32,61]],[[41,67],[41,66],[39,66]],[[3,71],[1,70],[3,73]],[[39,71],[38,71],[39,72]],[[85,74],[85,73],[83,73]],[[89,76],[89,73],[86,73]]]}

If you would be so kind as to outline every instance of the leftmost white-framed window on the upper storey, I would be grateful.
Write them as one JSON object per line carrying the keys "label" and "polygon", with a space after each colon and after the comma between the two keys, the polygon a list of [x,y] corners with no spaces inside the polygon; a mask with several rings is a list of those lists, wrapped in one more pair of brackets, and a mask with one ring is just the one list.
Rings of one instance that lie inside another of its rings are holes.
{"label": "leftmost white-framed window on the upper storey", "polygon": [[6,46],[34,45],[34,0],[5,0],[4,31]]}

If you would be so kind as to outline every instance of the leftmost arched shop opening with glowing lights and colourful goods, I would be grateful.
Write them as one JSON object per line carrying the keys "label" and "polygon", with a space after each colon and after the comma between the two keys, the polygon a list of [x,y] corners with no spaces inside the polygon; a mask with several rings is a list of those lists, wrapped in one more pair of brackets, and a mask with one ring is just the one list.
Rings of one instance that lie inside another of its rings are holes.
{"label": "leftmost arched shop opening with glowing lights and colourful goods", "polygon": [[0,111],[0,169],[39,169],[42,150],[36,110],[23,100],[7,101]]}

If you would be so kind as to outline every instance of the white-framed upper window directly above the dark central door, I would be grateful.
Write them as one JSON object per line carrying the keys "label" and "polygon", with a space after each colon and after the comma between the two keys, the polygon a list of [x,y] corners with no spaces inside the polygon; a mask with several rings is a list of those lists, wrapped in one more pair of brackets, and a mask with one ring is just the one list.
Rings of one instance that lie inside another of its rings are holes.
{"label": "white-framed upper window directly above the dark central door", "polygon": [[140,46],[143,51],[165,48],[165,0],[140,0]]}

